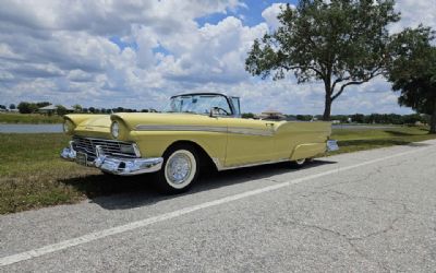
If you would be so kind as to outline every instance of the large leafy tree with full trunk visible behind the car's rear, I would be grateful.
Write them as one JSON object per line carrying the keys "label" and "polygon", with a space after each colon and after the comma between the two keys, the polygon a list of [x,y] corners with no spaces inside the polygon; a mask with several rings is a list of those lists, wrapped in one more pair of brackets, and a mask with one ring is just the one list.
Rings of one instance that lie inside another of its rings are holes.
{"label": "large leafy tree with full trunk visible behind the car's rear", "polygon": [[399,20],[393,0],[301,0],[281,10],[281,25],[254,44],[245,69],[274,80],[293,71],[299,83],[323,81],[324,120],[331,103],[350,85],[383,73],[389,40],[387,25]]}

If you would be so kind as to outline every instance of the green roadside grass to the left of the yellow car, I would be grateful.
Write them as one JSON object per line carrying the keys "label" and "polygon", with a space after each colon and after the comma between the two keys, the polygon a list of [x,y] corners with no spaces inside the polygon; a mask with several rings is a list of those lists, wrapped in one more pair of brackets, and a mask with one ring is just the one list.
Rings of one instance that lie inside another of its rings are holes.
{"label": "green roadside grass to the left of the yellow car", "polygon": [[0,214],[136,191],[143,177],[101,174],[62,161],[70,138],[60,133],[0,133]]}

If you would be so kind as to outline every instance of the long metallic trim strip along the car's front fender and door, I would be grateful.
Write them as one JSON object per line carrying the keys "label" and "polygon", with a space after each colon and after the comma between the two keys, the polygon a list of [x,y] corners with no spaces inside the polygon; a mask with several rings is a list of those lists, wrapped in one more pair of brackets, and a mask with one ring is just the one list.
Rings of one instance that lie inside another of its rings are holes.
{"label": "long metallic trim strip along the car's front fender and door", "polygon": [[253,129],[244,127],[211,127],[211,126],[144,126],[135,127],[137,131],[194,131],[194,132],[219,132],[249,135],[272,136],[274,130]]}

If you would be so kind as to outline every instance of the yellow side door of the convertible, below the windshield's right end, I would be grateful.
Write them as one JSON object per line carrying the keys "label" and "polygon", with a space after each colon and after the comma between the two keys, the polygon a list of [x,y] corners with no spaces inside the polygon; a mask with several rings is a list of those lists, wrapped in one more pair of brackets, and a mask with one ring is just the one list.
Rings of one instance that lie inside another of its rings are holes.
{"label": "yellow side door of the convertible, below the windshield's right end", "polygon": [[226,167],[272,161],[275,122],[228,118]]}

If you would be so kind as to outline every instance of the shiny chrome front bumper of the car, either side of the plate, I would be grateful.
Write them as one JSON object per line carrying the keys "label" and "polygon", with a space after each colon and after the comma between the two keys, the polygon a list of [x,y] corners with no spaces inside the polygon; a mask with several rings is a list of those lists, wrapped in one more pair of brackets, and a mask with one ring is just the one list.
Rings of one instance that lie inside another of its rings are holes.
{"label": "shiny chrome front bumper of the car, either side of the plate", "polygon": [[[155,173],[160,170],[164,158],[162,157],[150,157],[150,158],[125,158],[107,156],[104,154],[100,146],[96,146],[97,156],[93,162],[87,162],[87,166],[96,167],[105,173],[119,175],[119,176],[134,176],[147,173]],[[73,147],[73,142],[70,142],[70,146],[63,149],[61,158],[66,161],[75,161],[77,152]]]}

